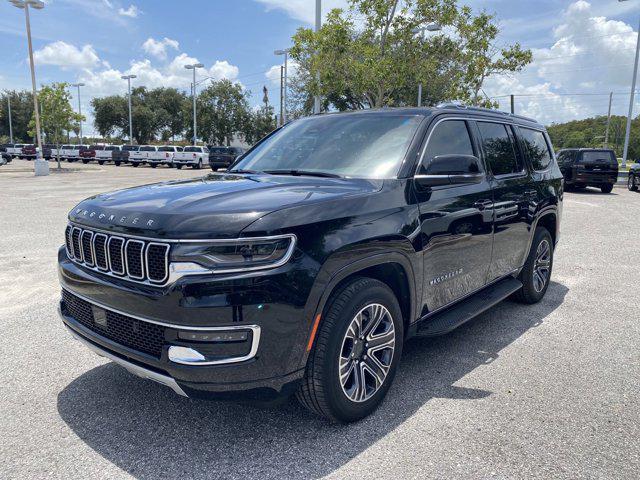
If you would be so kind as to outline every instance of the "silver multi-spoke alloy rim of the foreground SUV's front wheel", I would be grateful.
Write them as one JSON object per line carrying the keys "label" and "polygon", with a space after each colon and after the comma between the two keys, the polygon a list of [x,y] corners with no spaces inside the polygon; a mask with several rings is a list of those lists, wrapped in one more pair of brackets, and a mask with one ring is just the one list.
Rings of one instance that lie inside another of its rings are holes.
{"label": "silver multi-spoke alloy rim of the foreground SUV's front wheel", "polygon": [[338,359],[340,385],[353,402],[380,390],[391,368],[396,331],[389,310],[379,303],[360,310],[347,328]]}

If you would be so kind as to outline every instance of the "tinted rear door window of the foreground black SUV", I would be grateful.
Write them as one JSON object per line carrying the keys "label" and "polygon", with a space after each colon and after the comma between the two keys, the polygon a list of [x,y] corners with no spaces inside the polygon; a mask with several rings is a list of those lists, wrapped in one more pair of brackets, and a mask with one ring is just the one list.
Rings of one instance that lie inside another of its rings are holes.
{"label": "tinted rear door window of the foreground black SUV", "polygon": [[522,162],[516,155],[513,139],[507,126],[501,123],[478,122],[482,148],[487,165],[494,175],[520,173]]}

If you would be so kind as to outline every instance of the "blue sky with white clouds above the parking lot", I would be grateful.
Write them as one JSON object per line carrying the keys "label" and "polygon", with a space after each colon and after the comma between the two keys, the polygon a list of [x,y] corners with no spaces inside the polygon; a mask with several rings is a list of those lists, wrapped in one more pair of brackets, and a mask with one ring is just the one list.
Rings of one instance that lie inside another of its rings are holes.
{"label": "blue sky with white clouds above the parking lot", "polygon": [[[238,81],[262,101],[262,87],[278,104],[276,49],[291,44],[299,27],[312,26],[314,0],[46,0],[31,11],[38,84],[83,82],[85,134],[93,134],[90,101],[122,94],[133,85],[188,91],[198,79]],[[324,0],[323,15],[346,0]],[[520,42],[534,54],[523,72],[490,78],[485,93],[516,113],[549,124],[626,115],[640,20],[640,0],[467,0],[476,12],[495,14],[498,45]],[[30,88],[24,12],[0,0],[0,90]],[[75,97],[75,92],[73,92]],[[74,107],[77,99],[74,98]],[[636,108],[640,107],[640,102]],[[637,113],[636,113],[637,114]]]}

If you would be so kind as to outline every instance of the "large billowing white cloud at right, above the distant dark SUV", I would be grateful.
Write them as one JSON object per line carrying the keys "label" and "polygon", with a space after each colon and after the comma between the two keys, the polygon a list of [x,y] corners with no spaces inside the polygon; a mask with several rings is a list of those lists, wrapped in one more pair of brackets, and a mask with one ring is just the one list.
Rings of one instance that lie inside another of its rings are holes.
{"label": "large billowing white cloud at right, above the distant dark SUV", "polygon": [[[522,73],[490,79],[489,96],[516,95],[516,113],[543,123],[606,115],[608,92],[629,88],[637,33],[630,25],[596,15],[578,0],[569,5],[553,30],[553,44],[534,49],[534,61]],[[574,93],[588,95],[569,95]],[[501,107],[509,108],[502,98]],[[614,95],[613,113],[626,114],[629,97]]]}

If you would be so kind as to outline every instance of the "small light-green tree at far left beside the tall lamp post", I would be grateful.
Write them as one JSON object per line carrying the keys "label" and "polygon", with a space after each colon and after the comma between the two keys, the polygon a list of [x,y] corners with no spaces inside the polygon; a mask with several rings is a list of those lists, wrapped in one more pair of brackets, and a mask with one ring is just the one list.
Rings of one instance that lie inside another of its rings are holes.
{"label": "small light-green tree at far left beside the tall lamp post", "polygon": [[[38,103],[41,109],[40,127],[47,143],[57,146],[64,141],[65,131],[72,130],[84,120],[84,116],[76,113],[71,106],[71,95],[66,83],[43,85],[38,92]],[[29,122],[29,135],[35,136],[35,117]],[[60,159],[58,158],[58,168]]]}

